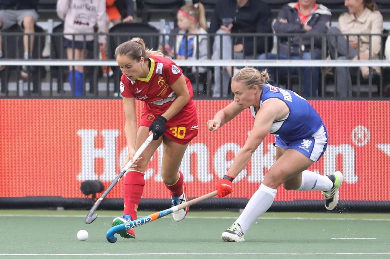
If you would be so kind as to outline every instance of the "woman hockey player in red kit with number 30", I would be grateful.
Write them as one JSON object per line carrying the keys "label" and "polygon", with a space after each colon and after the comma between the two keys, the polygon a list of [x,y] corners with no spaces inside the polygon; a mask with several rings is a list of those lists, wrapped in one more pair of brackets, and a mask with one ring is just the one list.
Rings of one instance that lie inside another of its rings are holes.
{"label": "woman hockey player in red kit with number 30", "polygon": [[[191,82],[172,60],[160,51],[145,48],[140,38],[124,42],[115,50],[115,58],[121,71],[121,94],[123,97],[124,133],[128,145],[125,164],[133,159],[137,150],[150,133],[152,143],[140,155],[142,159],[127,172],[124,180],[123,217],[113,220],[117,226],[135,220],[145,180],[147,163],[158,146],[163,143],[161,176],[170,191],[172,206],[185,202],[185,183],[179,171],[188,143],[198,134],[198,118],[192,100]],[[137,130],[135,99],[144,102],[141,122]],[[188,208],[173,213],[176,221],[182,220]],[[119,233],[123,238],[135,238],[133,229]]]}

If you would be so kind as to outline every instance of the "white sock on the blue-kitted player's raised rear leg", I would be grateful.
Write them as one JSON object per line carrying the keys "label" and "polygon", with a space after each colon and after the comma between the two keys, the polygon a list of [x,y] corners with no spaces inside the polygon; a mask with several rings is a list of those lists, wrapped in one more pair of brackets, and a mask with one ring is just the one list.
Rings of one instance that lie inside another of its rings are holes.
{"label": "white sock on the blue-kitted player's raised rear leg", "polygon": [[328,191],[332,189],[333,182],[327,177],[321,174],[316,174],[312,171],[305,170],[302,172],[302,184],[301,187],[296,189],[297,191],[307,190],[322,190]]}

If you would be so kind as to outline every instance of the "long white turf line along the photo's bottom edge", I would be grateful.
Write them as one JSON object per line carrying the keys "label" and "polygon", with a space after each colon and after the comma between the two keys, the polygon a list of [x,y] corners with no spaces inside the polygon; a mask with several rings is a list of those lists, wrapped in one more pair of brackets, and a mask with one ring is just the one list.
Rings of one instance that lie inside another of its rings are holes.
{"label": "long white turf line along the photo's bottom edge", "polygon": [[34,256],[34,255],[390,255],[390,253],[133,253],[133,254],[0,254],[0,256]]}

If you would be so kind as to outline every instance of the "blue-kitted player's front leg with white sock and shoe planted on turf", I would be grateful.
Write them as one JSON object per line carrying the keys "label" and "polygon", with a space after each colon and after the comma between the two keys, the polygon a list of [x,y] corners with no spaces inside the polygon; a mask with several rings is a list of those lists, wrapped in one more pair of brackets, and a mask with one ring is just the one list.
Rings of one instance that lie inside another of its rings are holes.
{"label": "blue-kitted player's front leg with white sock and shoe planted on turf", "polygon": [[[281,151],[279,151],[280,153]],[[314,161],[294,149],[288,149],[282,153],[283,155],[269,169],[264,181],[250,198],[236,222],[222,233],[224,241],[245,241],[244,234],[252,223],[271,207],[277,188],[314,163]]]}

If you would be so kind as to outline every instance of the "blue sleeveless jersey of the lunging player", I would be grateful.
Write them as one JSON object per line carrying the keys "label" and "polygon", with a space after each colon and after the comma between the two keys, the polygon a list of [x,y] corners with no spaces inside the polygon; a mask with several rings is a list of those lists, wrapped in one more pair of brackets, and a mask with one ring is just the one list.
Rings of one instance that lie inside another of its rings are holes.
{"label": "blue sleeveless jersey of the lunging player", "polygon": [[[269,133],[277,134],[286,143],[306,139],[314,134],[323,121],[316,110],[306,99],[291,90],[285,90],[268,84],[264,84],[260,97],[260,107],[271,98],[277,98],[285,102],[290,112],[283,119],[272,123]],[[252,115],[256,116],[254,106],[250,107]],[[326,128],[325,128],[326,130]]]}

